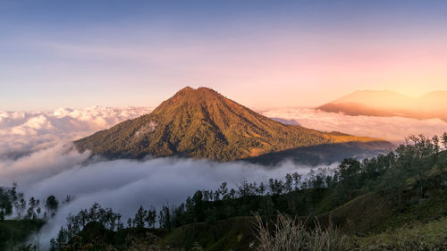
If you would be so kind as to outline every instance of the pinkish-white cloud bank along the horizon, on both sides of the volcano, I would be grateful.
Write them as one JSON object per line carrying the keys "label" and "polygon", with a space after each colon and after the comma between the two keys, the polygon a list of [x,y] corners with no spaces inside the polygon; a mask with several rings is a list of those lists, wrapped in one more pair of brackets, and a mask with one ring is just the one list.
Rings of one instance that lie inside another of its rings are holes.
{"label": "pinkish-white cloud bank along the horizon, on both sides of the volcano", "polygon": [[[17,158],[67,143],[152,110],[148,107],[93,106],[85,109],[59,108],[53,112],[0,111],[0,159]],[[431,136],[447,130],[447,122],[439,119],[419,121],[402,117],[349,116],[311,108],[270,109],[261,113],[311,129],[384,138],[393,143],[402,142],[409,134]]]}

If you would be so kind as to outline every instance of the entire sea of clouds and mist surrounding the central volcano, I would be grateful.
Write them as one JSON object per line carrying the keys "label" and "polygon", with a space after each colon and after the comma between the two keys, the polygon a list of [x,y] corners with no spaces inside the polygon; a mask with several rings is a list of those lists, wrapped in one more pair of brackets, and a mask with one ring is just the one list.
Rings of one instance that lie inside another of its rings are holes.
{"label": "entire sea of clouds and mist surrounding the central volcano", "polygon": [[[73,197],[39,234],[42,244],[55,237],[68,213],[77,213],[94,202],[114,208],[122,213],[122,219],[127,219],[139,205],[178,205],[196,190],[215,189],[223,181],[235,188],[243,180],[266,181],[283,178],[287,172],[308,173],[311,169],[289,162],[265,167],[178,158],[107,161],[90,158],[88,152],[80,154],[72,146],[73,139],[150,111],[152,108],[97,106],[54,112],[0,111],[0,186],[17,182],[27,197],[41,201],[49,195],[60,200],[67,195]],[[447,130],[447,123],[437,119],[348,116],[308,108],[270,109],[261,113],[316,130],[336,130],[394,143],[402,142],[409,134],[432,136]],[[319,167],[324,166],[312,168]]]}

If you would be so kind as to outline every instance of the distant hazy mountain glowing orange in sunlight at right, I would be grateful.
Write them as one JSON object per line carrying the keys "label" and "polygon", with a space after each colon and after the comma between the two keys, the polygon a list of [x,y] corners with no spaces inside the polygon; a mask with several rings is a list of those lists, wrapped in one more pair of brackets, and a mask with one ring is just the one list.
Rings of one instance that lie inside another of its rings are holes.
{"label": "distant hazy mountain glowing orange in sunlight at right", "polygon": [[390,90],[363,90],[342,96],[317,107],[330,113],[367,116],[401,116],[419,120],[438,118],[447,121],[447,91],[423,96],[404,96]]}

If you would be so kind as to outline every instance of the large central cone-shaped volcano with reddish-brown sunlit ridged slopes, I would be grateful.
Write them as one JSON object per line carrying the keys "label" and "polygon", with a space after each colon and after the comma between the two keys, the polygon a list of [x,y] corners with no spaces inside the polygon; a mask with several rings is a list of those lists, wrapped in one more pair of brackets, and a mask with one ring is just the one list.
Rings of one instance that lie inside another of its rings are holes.
{"label": "large central cone-shaped volcano with reddish-brown sunlit ridged slopes", "polygon": [[341,133],[285,125],[210,88],[183,88],[150,113],[74,141],[108,158],[187,156],[229,161],[302,146],[369,142]]}

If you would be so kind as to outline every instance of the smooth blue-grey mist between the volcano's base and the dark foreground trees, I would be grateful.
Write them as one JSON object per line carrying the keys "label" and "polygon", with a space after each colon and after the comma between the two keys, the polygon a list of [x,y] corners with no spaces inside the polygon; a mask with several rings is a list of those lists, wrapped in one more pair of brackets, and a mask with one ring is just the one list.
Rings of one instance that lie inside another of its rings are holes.
{"label": "smooth blue-grey mist between the volcano's base and the dark foreground trees", "polygon": [[67,195],[72,197],[70,203],[61,203],[55,218],[39,233],[39,241],[46,247],[69,213],[78,213],[95,202],[122,213],[125,222],[139,205],[180,205],[196,190],[215,190],[223,181],[229,188],[236,188],[243,180],[282,179],[287,172],[308,173],[310,169],[290,162],[266,167],[241,161],[216,163],[173,157],[107,161],[89,159],[89,153],[79,154],[69,145],[57,145],[0,162],[0,184],[17,182],[25,197],[42,202],[50,195],[60,202]]}

